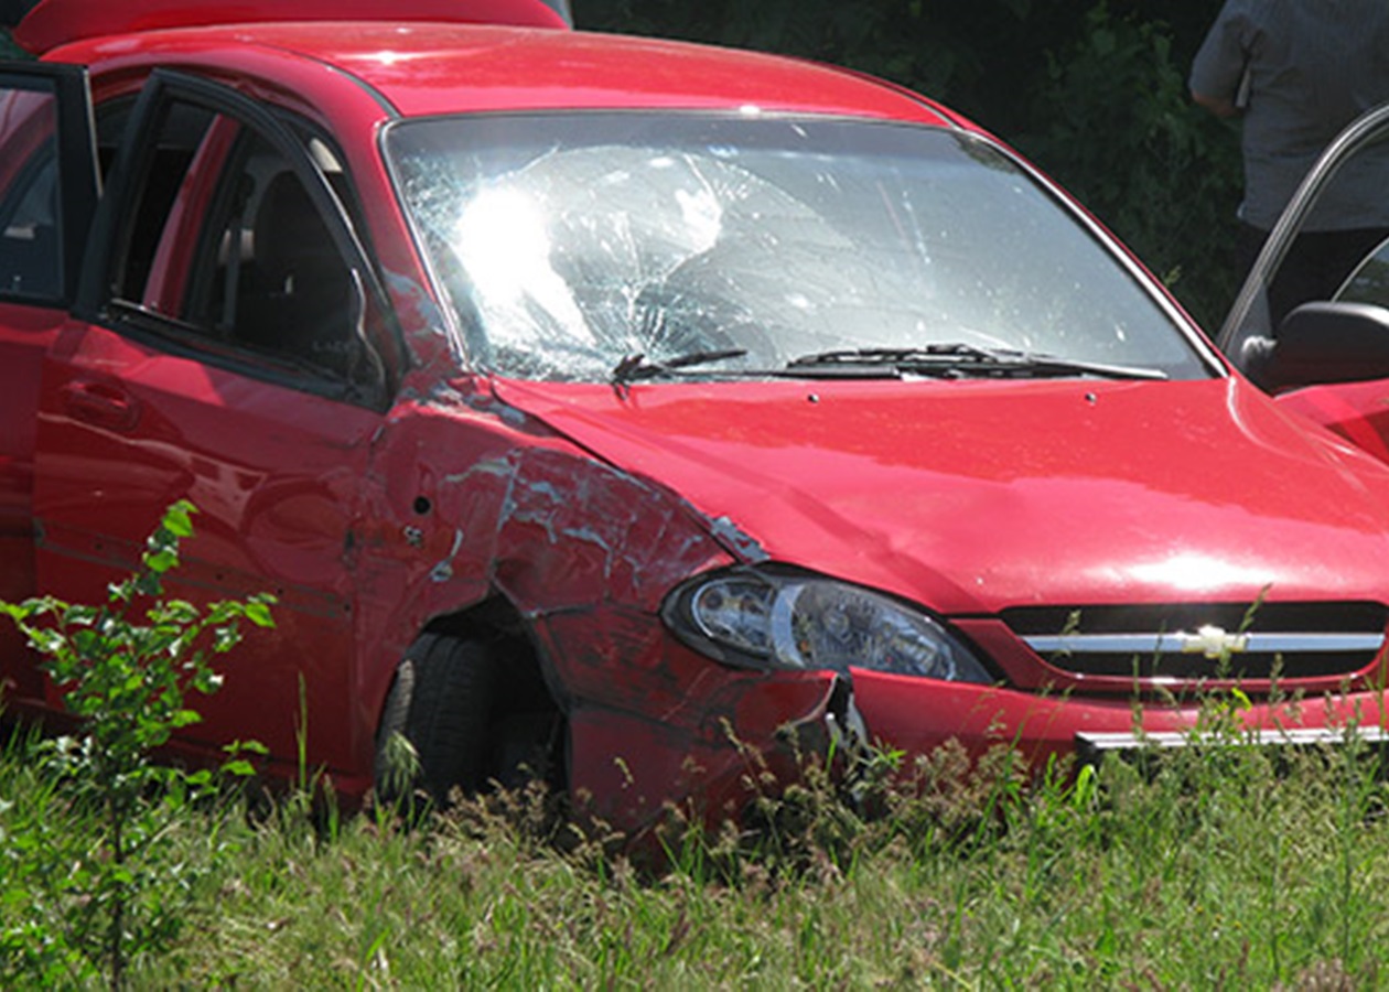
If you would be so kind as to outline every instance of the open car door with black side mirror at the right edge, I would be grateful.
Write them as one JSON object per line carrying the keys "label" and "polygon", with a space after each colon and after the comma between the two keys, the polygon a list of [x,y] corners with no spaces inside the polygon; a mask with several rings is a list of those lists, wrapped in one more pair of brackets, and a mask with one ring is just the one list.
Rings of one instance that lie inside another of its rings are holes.
{"label": "open car door with black side mirror at the right edge", "polygon": [[[1335,250],[1315,246],[1333,228]],[[1308,243],[1321,288],[1288,272]],[[1328,146],[1268,236],[1217,339],[1246,375],[1389,461],[1389,104]]]}

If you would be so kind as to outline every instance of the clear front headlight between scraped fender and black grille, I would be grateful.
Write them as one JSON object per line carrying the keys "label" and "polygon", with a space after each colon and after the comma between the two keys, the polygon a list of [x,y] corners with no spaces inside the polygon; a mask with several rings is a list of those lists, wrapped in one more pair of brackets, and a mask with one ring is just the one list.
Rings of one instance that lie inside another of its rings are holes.
{"label": "clear front headlight between scraped fender and black grille", "polygon": [[701,575],[671,593],[663,618],[686,645],[728,664],[995,681],[926,614],[833,579],[764,570]]}

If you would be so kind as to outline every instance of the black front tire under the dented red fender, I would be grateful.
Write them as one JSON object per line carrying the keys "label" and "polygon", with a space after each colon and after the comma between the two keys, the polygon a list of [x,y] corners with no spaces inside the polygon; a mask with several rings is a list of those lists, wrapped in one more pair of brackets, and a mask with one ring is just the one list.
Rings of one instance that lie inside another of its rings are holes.
{"label": "black front tire under the dented red fender", "polygon": [[[425,634],[406,653],[376,731],[376,793],[392,802],[424,789],[447,804],[454,789],[486,785],[489,716],[497,666],[486,647]],[[401,768],[396,735],[414,749],[415,768]]]}

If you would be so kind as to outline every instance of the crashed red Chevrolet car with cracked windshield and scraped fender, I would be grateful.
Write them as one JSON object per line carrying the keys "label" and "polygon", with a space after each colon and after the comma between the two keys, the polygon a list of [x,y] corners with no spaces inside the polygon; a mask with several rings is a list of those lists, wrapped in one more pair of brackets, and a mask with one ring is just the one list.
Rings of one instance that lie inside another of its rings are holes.
{"label": "crashed red Chevrolet car with cracked windshield and scraped fender", "polygon": [[14,36],[0,596],[97,600],[192,500],[178,592],[278,628],[186,749],[360,796],[404,735],[640,828],[817,741],[1040,761],[1236,685],[1260,736],[1379,727],[1389,470],[946,107],[539,0]]}

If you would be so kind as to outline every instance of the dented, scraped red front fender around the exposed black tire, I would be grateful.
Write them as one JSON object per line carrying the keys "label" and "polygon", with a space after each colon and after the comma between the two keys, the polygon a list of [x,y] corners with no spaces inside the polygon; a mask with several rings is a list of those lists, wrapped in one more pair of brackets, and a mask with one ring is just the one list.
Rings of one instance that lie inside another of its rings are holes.
{"label": "dented, scraped red front fender around the exposed black tire", "polygon": [[[421,631],[493,597],[521,618],[568,716],[572,785],[608,795],[599,786],[625,763],[640,784],[613,795],[632,814],[678,795],[669,789],[688,778],[676,774],[686,760],[726,778],[735,739],[770,746],[779,725],[822,706],[828,677],[726,668],[661,624],[675,585],[747,560],[729,521],[601,461],[474,381],[417,393],[376,439],[376,500],[354,545],[358,634],[369,645],[358,725],[374,734],[394,667]],[[618,727],[640,729],[614,736]],[[372,747],[361,735],[364,761]]]}

